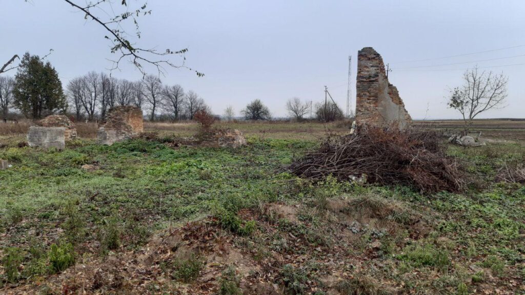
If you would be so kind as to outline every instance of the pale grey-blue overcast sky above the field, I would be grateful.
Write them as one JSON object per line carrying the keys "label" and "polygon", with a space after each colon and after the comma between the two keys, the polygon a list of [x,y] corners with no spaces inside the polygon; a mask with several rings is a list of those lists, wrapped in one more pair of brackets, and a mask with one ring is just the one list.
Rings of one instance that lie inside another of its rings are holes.
{"label": "pale grey-blue overcast sky above the field", "polygon": [[[135,8],[143,3],[128,2]],[[119,3],[113,4],[117,12]],[[349,55],[355,106],[357,51],[371,46],[390,63],[389,79],[413,118],[459,118],[447,109],[445,97],[460,85],[464,69],[476,64],[509,77],[508,107],[484,118],[525,118],[523,0],[150,0],[148,7],[152,14],[139,18],[138,44],[188,48],[186,65],[205,73],[198,78],[185,69],[169,69],[162,81],[196,91],[218,114],[228,104],[238,113],[247,102],[261,99],[280,117],[291,97],[324,101],[324,85],[344,108]],[[45,55],[53,48],[48,60],[64,87],[88,71],[109,72],[107,59],[114,56],[106,34],[64,1],[0,0],[0,63],[14,54]],[[507,49],[493,50],[502,48]],[[462,56],[434,59],[456,55]],[[495,67],[505,65],[513,66]],[[112,75],[142,77],[130,65]]]}

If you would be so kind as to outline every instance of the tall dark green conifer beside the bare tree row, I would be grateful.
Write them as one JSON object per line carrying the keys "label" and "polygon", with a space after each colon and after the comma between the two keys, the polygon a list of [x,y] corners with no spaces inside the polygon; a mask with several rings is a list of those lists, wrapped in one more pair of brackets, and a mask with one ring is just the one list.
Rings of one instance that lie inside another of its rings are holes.
{"label": "tall dark green conifer beside the bare tree row", "polygon": [[49,62],[24,54],[13,87],[14,106],[26,117],[40,119],[67,108],[58,73]]}

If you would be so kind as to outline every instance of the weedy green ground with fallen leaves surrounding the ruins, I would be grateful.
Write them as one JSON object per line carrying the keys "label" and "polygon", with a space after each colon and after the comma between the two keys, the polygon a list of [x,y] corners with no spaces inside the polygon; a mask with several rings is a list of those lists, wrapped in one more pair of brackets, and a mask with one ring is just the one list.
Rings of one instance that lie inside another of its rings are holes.
{"label": "weedy green ground with fallen leaves surrounding the ruins", "polygon": [[301,178],[289,167],[319,151],[306,136],[319,126],[232,124],[247,128],[247,146],[171,146],[170,124],[111,146],[83,136],[64,151],[5,138],[0,158],[13,166],[0,171],[2,291],[525,291],[523,145],[445,146],[463,169],[461,189],[447,190]]}

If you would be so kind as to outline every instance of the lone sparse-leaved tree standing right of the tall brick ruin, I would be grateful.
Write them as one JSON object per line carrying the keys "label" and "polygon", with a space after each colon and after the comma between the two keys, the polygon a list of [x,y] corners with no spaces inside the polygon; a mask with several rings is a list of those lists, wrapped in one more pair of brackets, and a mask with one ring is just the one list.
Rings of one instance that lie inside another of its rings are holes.
{"label": "lone sparse-leaved tree standing right of the tall brick ruin", "polygon": [[463,80],[463,86],[450,90],[448,107],[463,116],[464,131],[467,133],[478,114],[505,107],[508,77],[503,73],[496,75],[492,71],[479,72],[478,67],[475,67],[465,71]]}

